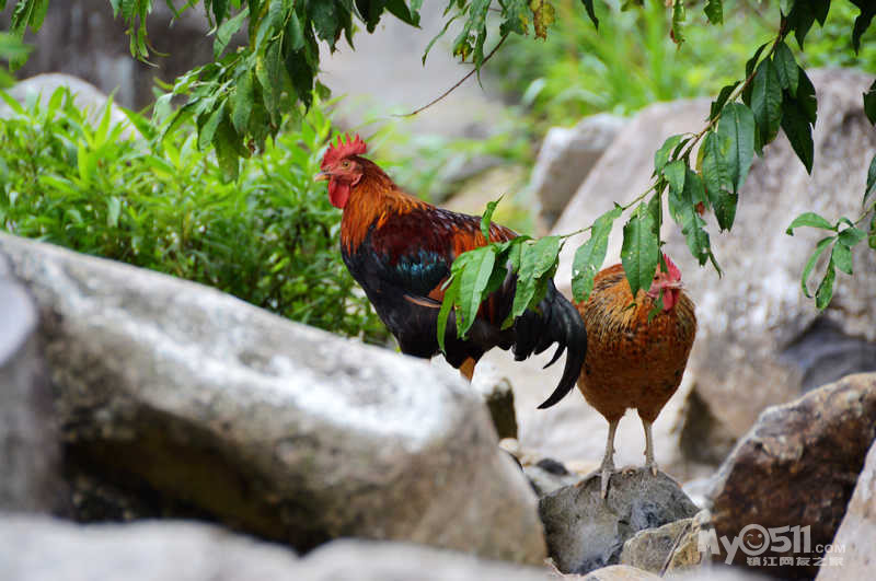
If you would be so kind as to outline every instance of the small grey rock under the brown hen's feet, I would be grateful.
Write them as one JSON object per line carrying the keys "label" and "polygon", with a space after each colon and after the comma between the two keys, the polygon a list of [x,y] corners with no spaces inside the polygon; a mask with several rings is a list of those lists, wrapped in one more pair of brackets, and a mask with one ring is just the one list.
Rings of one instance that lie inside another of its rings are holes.
{"label": "small grey rock under the brown hen's feet", "polygon": [[614,474],[607,500],[593,474],[539,501],[551,557],[561,571],[579,574],[616,565],[623,544],[637,532],[693,516],[696,510],[671,478],[645,468]]}

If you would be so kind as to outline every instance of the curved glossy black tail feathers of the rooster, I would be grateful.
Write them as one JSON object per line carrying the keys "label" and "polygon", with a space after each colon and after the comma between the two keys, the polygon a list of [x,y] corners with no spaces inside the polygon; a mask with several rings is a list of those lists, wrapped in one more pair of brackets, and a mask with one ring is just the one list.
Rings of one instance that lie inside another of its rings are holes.
{"label": "curved glossy black tail feathers of the rooster", "polygon": [[515,322],[515,332],[514,355],[518,361],[557,344],[553,358],[544,365],[546,368],[566,351],[563,376],[554,393],[539,406],[539,409],[551,407],[572,391],[580,375],[587,356],[587,330],[584,321],[578,310],[551,282],[548,293],[539,303],[538,312],[527,311],[520,315]]}

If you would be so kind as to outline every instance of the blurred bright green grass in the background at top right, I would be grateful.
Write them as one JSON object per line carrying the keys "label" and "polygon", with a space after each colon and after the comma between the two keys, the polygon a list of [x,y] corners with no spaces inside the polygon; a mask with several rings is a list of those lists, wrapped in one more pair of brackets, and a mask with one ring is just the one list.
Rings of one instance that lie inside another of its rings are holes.
{"label": "blurred bright green grass in the background at top right", "polygon": [[714,94],[735,78],[751,38],[770,33],[759,14],[738,2],[724,3],[722,27],[704,25],[705,16],[689,7],[687,42],[678,48],[670,39],[672,12],[662,2],[627,11],[620,10],[619,0],[595,2],[598,31],[579,1],[554,3],[557,20],[544,43],[511,37],[491,63],[504,90],[531,105],[540,125]]}

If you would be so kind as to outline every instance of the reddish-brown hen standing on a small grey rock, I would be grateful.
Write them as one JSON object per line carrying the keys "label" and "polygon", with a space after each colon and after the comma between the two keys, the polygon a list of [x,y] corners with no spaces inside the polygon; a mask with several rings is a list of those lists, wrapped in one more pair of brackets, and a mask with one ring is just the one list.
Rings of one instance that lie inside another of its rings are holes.
{"label": "reddish-brown hen standing on a small grey rock", "polygon": [[[650,289],[635,303],[623,266],[600,270],[586,302],[576,303],[589,338],[578,388],[609,422],[602,458],[601,493],[614,472],[614,432],[627,408],[638,410],[645,428],[645,466],[657,474],[652,423],[676,393],[696,334],[693,302],[681,290],[681,271],[665,254]],[[661,307],[648,321],[658,300]]]}

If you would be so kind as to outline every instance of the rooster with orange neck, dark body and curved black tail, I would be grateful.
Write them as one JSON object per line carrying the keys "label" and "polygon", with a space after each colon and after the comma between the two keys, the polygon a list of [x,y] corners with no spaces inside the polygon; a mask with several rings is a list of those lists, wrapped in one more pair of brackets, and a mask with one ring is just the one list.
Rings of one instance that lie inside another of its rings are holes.
{"label": "rooster with orange neck, dark body and curved black tail", "polygon": [[[366,143],[356,136],[330,143],[321,172],[328,181],[328,200],[343,210],[341,255],[353,278],[365,290],[377,314],[395,336],[403,353],[431,358],[438,347],[438,312],[442,286],[453,260],[484,246],[481,218],[436,208],[396,186],[389,175],[362,158]],[[517,234],[491,224],[489,242]],[[563,376],[545,404],[558,402],[575,385],[587,352],[587,335],[578,312],[549,284],[538,311],[528,310],[508,328],[516,278],[507,276],[481,304],[465,338],[457,336],[451,314],[445,338],[445,358],[471,381],[474,367],[492,349],[512,349],[515,359],[540,353],[558,344],[551,363],[567,349]],[[550,363],[549,363],[550,364]]]}

